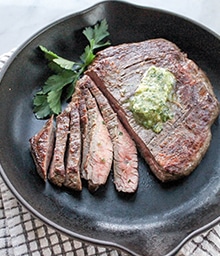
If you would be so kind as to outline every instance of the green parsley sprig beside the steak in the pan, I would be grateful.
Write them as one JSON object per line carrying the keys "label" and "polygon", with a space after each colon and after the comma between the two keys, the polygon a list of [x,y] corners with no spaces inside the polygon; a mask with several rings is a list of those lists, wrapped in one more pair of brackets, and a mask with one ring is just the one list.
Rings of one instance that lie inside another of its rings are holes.
{"label": "green parsley sprig beside the steak in the pan", "polygon": [[72,96],[77,80],[94,60],[95,51],[110,45],[108,40],[105,41],[109,36],[105,19],[94,27],[85,28],[83,34],[89,44],[85,47],[79,62],[62,58],[44,46],[39,46],[48,60],[48,67],[53,71],[53,75],[45,81],[41,90],[34,96],[34,113],[37,118],[58,115],[62,110],[63,98],[68,100]]}

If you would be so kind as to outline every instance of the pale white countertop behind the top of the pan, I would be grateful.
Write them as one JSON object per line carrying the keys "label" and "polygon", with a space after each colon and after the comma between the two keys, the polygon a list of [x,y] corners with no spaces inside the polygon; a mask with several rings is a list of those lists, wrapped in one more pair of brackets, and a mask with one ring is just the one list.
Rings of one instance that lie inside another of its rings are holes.
{"label": "pale white countertop behind the top of the pan", "polygon": [[[0,55],[18,47],[38,30],[100,0],[0,0]],[[220,35],[219,0],[128,0],[185,16]]]}

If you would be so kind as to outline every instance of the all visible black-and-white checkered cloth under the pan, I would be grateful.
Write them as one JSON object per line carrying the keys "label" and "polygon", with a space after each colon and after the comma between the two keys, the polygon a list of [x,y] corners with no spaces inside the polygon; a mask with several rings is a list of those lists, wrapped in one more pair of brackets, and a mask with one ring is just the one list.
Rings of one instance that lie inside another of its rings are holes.
{"label": "all visible black-and-white checkered cloth under the pan", "polygon": [[[13,50],[0,56],[0,70]],[[124,252],[70,239],[33,217],[0,177],[1,256],[128,256]],[[176,256],[220,256],[220,225],[195,237]]]}

